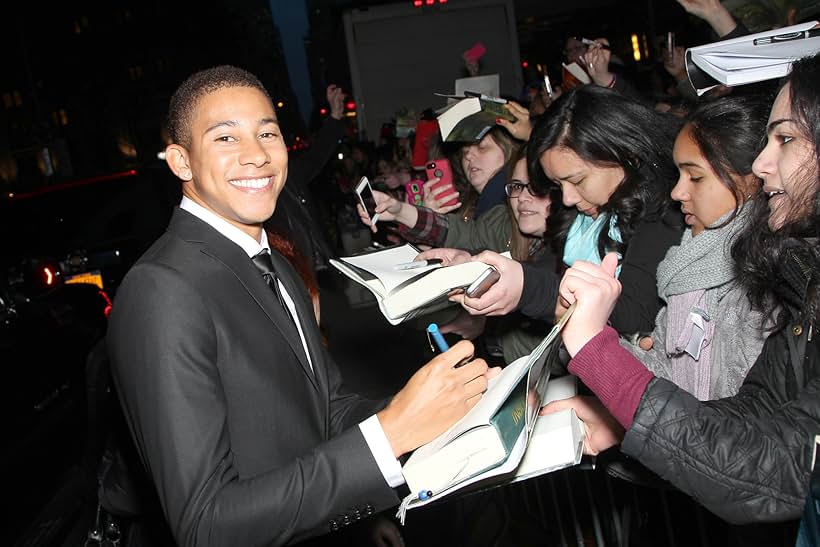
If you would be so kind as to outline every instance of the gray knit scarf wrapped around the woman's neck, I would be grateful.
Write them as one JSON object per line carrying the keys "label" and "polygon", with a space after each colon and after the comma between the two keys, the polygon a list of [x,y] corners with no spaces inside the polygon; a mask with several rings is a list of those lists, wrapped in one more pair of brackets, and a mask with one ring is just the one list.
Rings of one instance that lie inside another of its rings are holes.
{"label": "gray knit scarf wrapped around the woman's neck", "polygon": [[[680,245],[670,247],[666,257],[658,265],[658,296],[664,302],[669,296],[699,289],[712,289],[726,285],[735,278],[731,246],[735,236],[746,225],[748,207],[741,208],[737,217],[720,228],[703,230],[696,237],[691,228],[683,233]],[[720,226],[730,217],[725,214],[712,226]],[[720,291],[723,296],[724,291]]]}

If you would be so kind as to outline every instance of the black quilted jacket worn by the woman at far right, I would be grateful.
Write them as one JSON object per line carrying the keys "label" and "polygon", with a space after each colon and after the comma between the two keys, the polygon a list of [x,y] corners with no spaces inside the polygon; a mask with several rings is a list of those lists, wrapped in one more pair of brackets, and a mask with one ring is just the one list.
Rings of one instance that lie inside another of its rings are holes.
{"label": "black quilted jacket worn by the woman at far right", "polygon": [[820,332],[801,321],[820,260],[790,253],[781,271],[784,326],[734,397],[702,402],[654,379],[621,449],[735,524],[797,519],[820,434]]}

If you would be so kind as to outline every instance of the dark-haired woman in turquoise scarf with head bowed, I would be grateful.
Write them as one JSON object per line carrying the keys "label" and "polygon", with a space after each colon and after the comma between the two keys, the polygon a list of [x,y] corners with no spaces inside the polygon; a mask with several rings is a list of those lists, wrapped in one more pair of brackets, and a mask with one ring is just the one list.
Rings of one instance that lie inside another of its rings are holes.
{"label": "dark-haired woman in turquoise scarf with head bowed", "polygon": [[[624,336],[652,331],[661,307],[655,270],[683,231],[669,198],[677,178],[671,152],[679,125],[677,118],[615,91],[584,86],[553,103],[530,137],[531,184],[539,192],[561,190],[564,207],[552,212],[546,233],[561,269],[576,260],[600,262],[610,251],[621,257],[624,291],[611,321]],[[464,298],[468,312],[518,309],[550,320],[563,313],[560,271],[489,252],[475,258],[496,266],[501,279],[483,297]]]}

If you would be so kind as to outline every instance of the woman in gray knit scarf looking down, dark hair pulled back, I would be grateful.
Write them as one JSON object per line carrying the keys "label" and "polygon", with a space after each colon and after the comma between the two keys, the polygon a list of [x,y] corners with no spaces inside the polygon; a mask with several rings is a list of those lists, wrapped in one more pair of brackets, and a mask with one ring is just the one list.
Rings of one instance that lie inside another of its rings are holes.
{"label": "woman in gray knit scarf looking down, dark hair pulled back", "polygon": [[652,336],[640,347],[623,344],[701,400],[737,393],[767,335],[730,254],[760,189],[752,162],[767,112],[759,98],[727,97],[703,103],[684,120],[673,151],[680,176],[672,199],[687,229],[658,266],[658,296],[666,305]]}

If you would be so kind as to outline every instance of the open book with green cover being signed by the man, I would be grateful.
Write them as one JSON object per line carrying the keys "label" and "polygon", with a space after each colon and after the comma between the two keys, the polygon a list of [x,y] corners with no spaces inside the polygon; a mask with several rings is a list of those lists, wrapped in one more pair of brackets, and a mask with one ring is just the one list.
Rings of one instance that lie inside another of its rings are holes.
{"label": "open book with green cover being signed by the man", "polygon": [[[572,411],[539,417],[548,400],[550,364],[558,359],[564,314],[530,355],[509,364],[490,380],[481,400],[461,420],[418,448],[402,468],[410,495],[399,508],[421,507],[470,485],[486,488],[534,477],[580,460],[583,429]],[[573,379],[574,380],[574,379]],[[553,398],[565,398],[568,392]],[[537,424],[537,425],[536,425]],[[528,458],[528,446],[533,452]],[[555,443],[551,446],[551,443]],[[522,467],[518,473],[518,468]]]}

